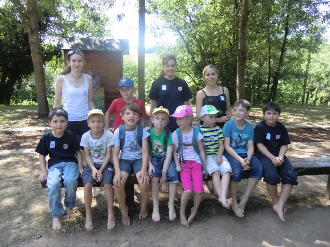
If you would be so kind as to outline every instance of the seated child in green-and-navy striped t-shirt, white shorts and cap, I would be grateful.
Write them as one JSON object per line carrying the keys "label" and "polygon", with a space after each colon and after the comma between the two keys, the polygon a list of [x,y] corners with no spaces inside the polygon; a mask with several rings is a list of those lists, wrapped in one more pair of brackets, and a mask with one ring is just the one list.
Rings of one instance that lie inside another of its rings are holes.
{"label": "seated child in green-and-navy striped t-shirt, white shorts and cap", "polygon": [[[227,190],[232,174],[230,163],[223,156],[224,137],[221,127],[215,125],[218,111],[213,105],[205,105],[201,109],[201,120],[203,125],[200,129],[203,131],[203,141],[206,146],[206,165],[209,175],[212,175],[212,190],[219,197],[219,202],[226,209],[230,208],[232,199],[227,199]],[[220,180],[220,175],[222,179]]]}

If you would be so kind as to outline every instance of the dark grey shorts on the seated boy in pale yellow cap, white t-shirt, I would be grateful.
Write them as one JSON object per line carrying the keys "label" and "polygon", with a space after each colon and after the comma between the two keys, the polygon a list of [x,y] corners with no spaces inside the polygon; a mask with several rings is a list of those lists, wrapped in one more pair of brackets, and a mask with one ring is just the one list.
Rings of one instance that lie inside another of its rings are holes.
{"label": "dark grey shorts on the seated boy in pale yellow cap, white t-shirt", "polygon": [[[95,164],[94,166],[96,167],[97,170],[100,170],[100,168],[102,167],[102,164]],[[106,167],[106,169],[103,171],[102,175],[102,181],[101,181],[101,185],[104,184],[113,184],[113,164],[109,163],[108,166]],[[90,169],[89,166],[85,166],[84,167],[84,173],[83,173],[83,184],[85,186],[86,183],[92,183],[92,184],[96,184],[95,179],[93,178],[93,172]]]}

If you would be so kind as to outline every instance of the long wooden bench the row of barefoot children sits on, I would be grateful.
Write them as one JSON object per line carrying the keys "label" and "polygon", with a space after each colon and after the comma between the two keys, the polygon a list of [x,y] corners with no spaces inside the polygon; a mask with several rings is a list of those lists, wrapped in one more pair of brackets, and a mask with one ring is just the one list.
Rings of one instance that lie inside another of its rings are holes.
{"label": "long wooden bench the row of barefoot children sits on", "polygon": [[[290,158],[290,161],[298,173],[298,176],[305,175],[324,175],[329,174],[325,198],[329,199],[330,196],[330,157],[317,157],[317,158]],[[244,171],[243,179],[247,179],[248,171]],[[212,176],[208,176],[204,181],[212,180]],[[125,185],[126,191],[126,204],[130,212],[134,212],[134,185],[138,184],[136,177],[129,177]],[[46,183],[41,183],[43,188],[47,188]],[[100,183],[96,183],[94,187],[100,187]],[[64,185],[62,184],[62,187]],[[84,187],[82,177],[78,178],[78,187]]]}

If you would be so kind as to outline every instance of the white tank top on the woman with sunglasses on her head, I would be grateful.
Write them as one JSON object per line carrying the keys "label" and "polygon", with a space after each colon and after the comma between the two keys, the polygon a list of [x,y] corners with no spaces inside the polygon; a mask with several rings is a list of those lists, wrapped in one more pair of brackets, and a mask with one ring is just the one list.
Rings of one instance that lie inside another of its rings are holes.
{"label": "white tank top on the woman with sunglasses on her head", "polygon": [[87,120],[88,108],[88,81],[85,77],[85,85],[80,88],[73,87],[64,75],[64,87],[62,88],[63,109],[68,112],[69,121]]}

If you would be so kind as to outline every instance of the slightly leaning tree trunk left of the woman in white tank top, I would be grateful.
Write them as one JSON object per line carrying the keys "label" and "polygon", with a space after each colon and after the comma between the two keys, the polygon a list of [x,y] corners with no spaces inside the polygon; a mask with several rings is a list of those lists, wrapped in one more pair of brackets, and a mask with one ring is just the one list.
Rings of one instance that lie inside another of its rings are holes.
{"label": "slightly leaning tree trunk left of the woman in white tank top", "polygon": [[37,16],[37,2],[36,0],[27,0],[26,6],[26,20],[28,35],[28,42],[31,48],[31,56],[33,61],[33,68],[35,72],[36,93],[38,104],[38,115],[47,116],[49,113],[49,106],[46,95],[45,74],[43,68],[43,57],[41,52],[41,45],[39,39],[39,26]]}

